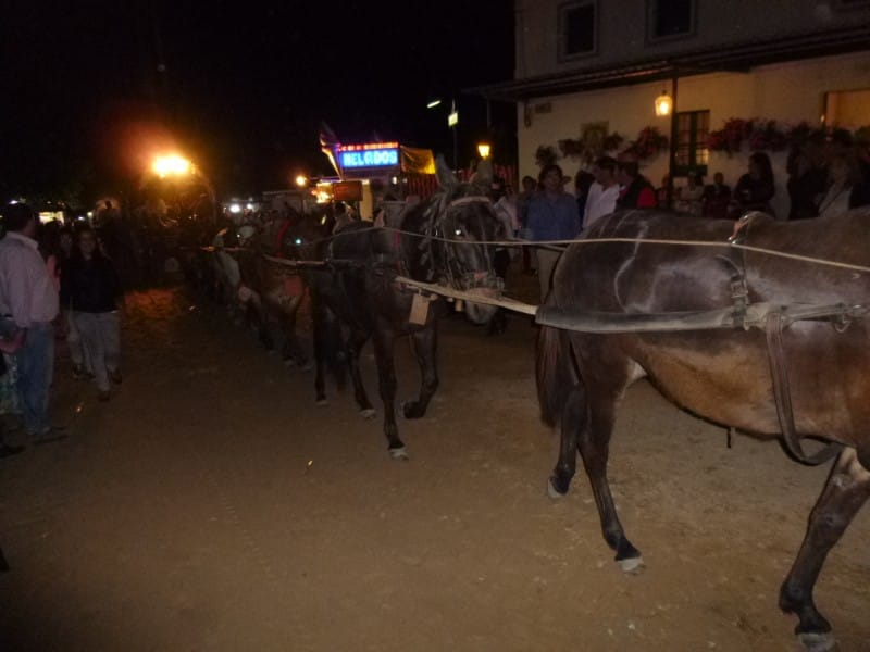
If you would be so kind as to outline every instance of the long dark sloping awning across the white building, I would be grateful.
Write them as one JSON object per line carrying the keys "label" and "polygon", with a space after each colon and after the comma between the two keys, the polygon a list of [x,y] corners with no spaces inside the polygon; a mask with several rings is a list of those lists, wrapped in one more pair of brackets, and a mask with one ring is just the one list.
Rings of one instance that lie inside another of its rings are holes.
{"label": "long dark sloping awning across the white building", "polygon": [[487,100],[521,102],[582,90],[659,82],[716,72],[748,72],[758,65],[845,54],[870,49],[870,25],[755,39],[728,46],[645,59],[621,65],[585,66],[551,75],[525,77],[464,89]]}

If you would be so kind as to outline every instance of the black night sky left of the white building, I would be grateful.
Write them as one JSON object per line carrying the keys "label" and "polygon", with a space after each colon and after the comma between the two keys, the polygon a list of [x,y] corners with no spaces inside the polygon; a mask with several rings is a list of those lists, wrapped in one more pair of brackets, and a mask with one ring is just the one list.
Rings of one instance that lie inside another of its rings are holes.
{"label": "black night sky left of the white building", "polygon": [[[89,195],[140,174],[175,146],[221,196],[328,172],[325,121],[343,142],[398,140],[460,164],[487,137],[484,102],[462,88],[513,74],[513,3],[5,2],[0,197]],[[448,100],[434,110],[433,97]],[[513,106],[494,104],[497,150]],[[60,197],[59,197],[60,198]]]}

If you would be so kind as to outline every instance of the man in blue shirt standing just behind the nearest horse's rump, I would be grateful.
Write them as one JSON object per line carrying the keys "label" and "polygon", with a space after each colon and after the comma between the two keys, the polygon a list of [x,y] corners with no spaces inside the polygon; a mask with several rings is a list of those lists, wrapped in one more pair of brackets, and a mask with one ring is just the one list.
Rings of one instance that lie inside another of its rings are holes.
{"label": "man in blue shirt standing just behind the nearest horse's rump", "polygon": [[[545,165],[538,177],[542,192],[529,203],[525,227],[535,242],[546,240],[573,240],[580,233],[580,211],[576,200],[563,190],[564,175],[558,165]],[[537,276],[540,284],[540,302],[547,298],[550,277],[561,251],[538,247]]]}

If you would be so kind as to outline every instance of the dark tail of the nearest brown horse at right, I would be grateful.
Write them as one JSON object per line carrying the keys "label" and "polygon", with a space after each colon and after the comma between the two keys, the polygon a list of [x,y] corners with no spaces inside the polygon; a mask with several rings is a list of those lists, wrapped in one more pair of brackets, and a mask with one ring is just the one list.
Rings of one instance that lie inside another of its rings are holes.
{"label": "dark tail of the nearest brown horse at right", "polygon": [[543,326],[537,339],[537,399],[540,418],[548,426],[560,423],[562,411],[576,384],[571,367],[571,342],[568,333]]}

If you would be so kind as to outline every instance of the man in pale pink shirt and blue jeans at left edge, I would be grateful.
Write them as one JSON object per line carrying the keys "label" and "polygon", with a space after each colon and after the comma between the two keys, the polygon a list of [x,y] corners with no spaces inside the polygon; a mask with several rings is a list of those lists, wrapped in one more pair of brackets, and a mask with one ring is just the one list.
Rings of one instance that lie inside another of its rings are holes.
{"label": "man in pale pink shirt and blue jeans at left edge", "polygon": [[15,353],[17,390],[27,435],[51,432],[49,388],[54,371],[54,328],[58,286],[48,273],[36,242],[37,215],[25,204],[3,209],[7,236],[0,240],[0,314],[24,331]]}

